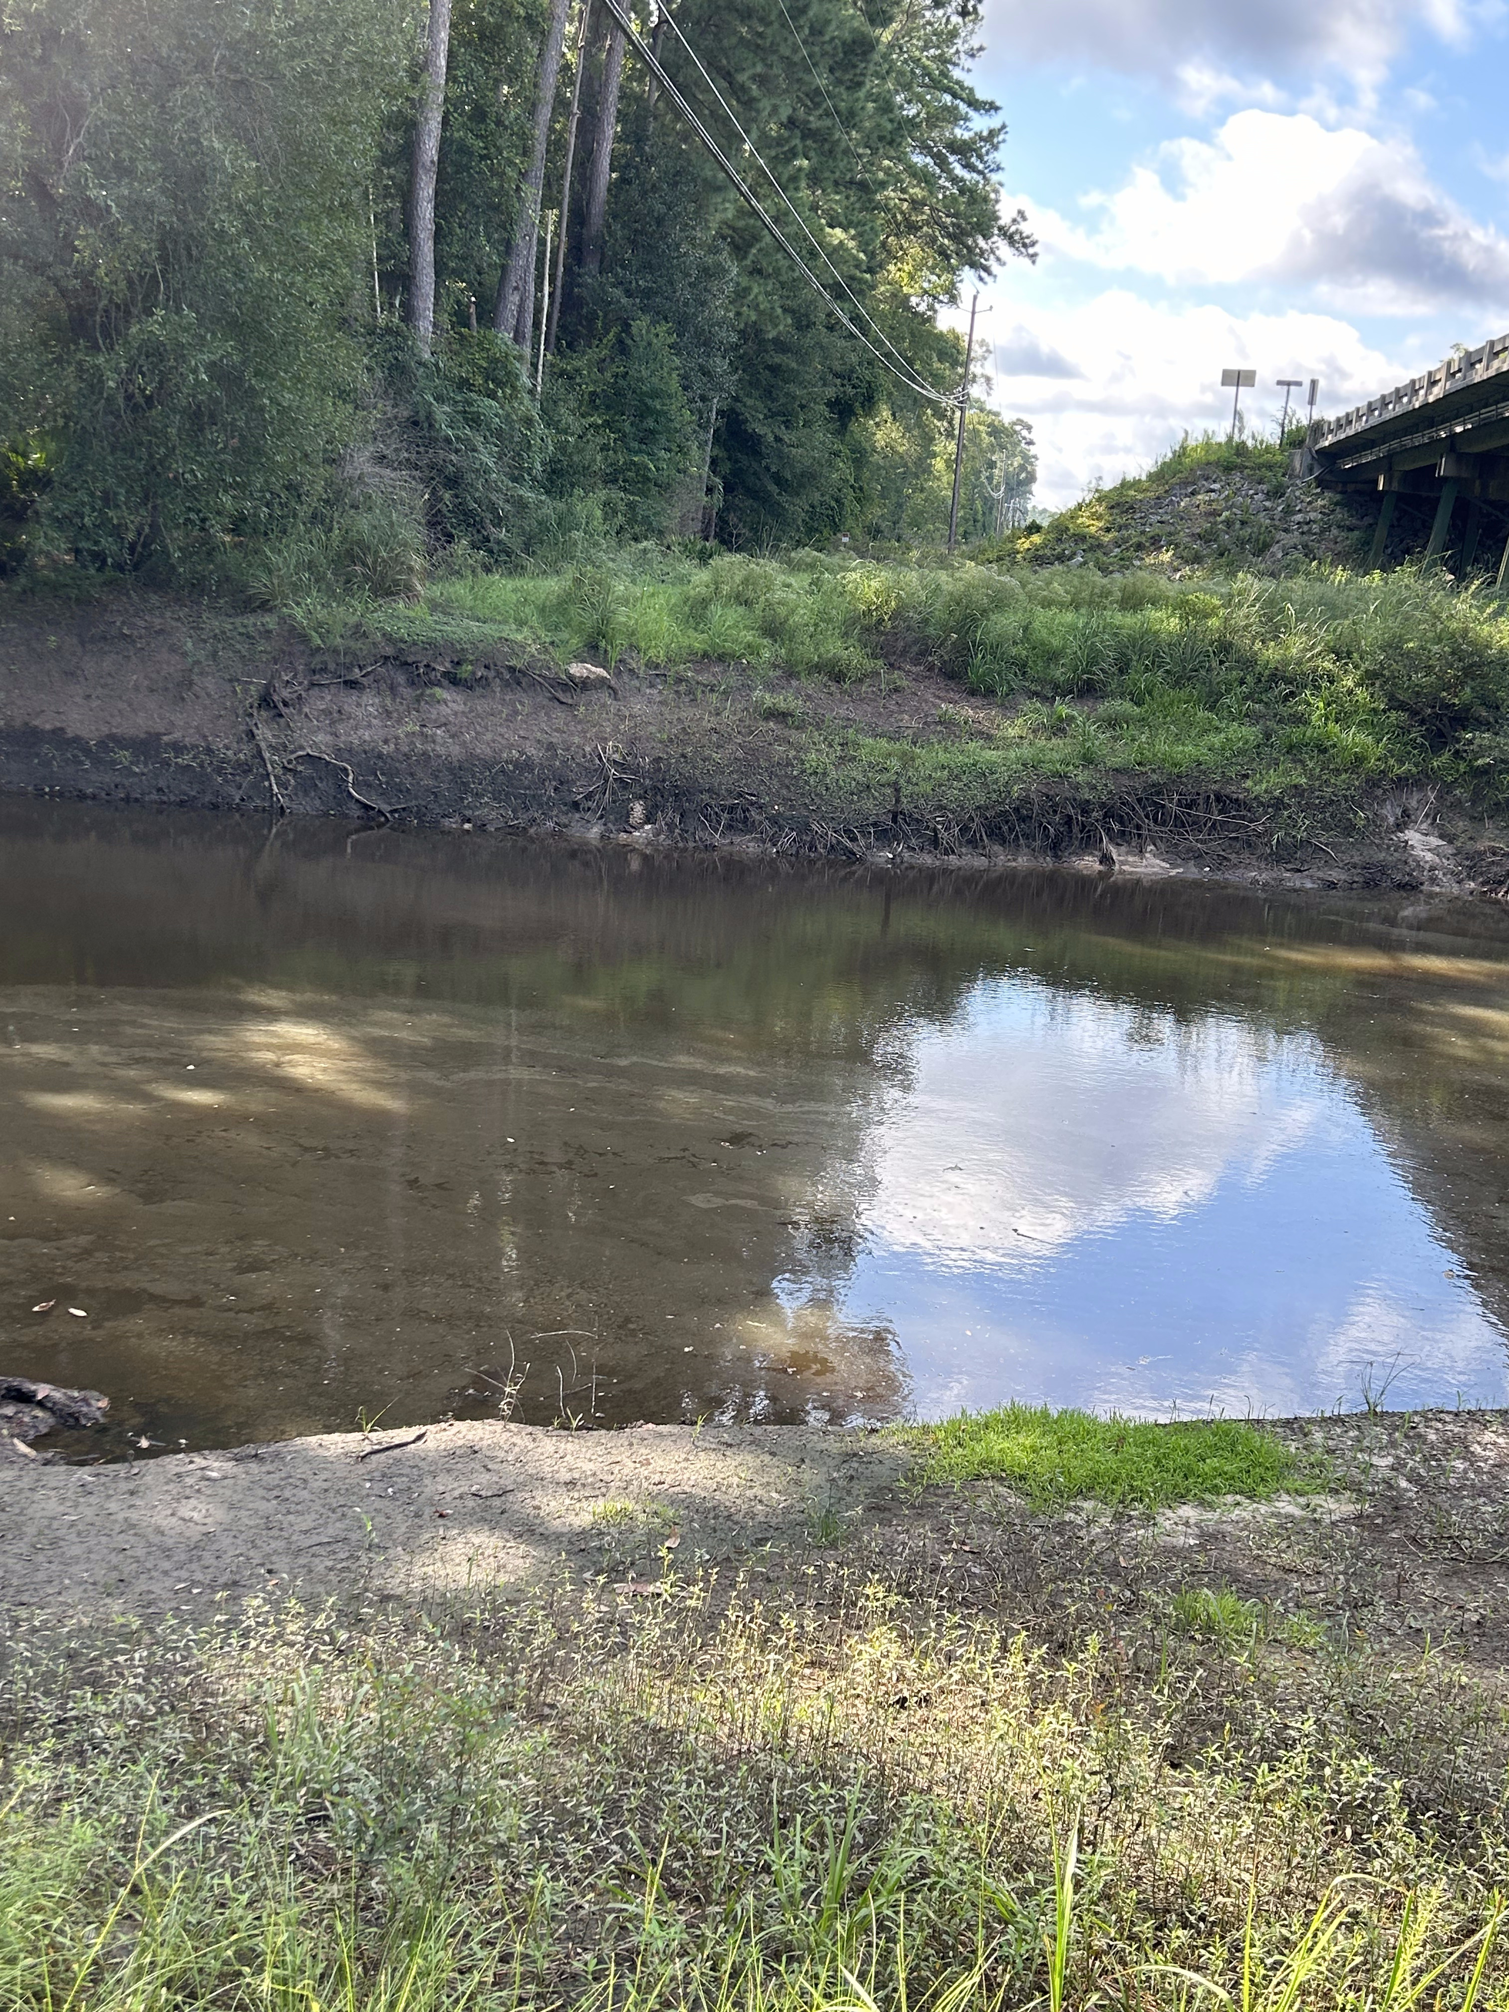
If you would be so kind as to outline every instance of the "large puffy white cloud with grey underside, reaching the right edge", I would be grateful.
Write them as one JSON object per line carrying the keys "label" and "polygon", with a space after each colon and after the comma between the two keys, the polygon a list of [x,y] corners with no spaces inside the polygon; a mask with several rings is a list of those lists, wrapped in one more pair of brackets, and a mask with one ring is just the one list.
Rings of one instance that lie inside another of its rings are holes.
{"label": "large puffy white cloud with grey underside, reaching the right edge", "polygon": [[1501,231],[1435,189],[1408,145],[1308,113],[1233,113],[1080,207],[1088,227],[1032,209],[1046,256],[1171,286],[1306,286],[1372,314],[1509,306]]}

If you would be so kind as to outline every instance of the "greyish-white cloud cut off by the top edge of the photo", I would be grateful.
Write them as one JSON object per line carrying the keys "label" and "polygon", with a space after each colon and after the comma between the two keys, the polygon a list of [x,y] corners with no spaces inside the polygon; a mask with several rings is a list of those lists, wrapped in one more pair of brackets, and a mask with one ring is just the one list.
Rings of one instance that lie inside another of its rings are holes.
{"label": "greyish-white cloud cut off by the top edge of the photo", "polygon": [[1340,70],[1362,87],[1388,68],[1412,28],[1463,46],[1497,0],[986,0],[984,34],[1018,62],[1072,62],[1183,82],[1314,78]]}

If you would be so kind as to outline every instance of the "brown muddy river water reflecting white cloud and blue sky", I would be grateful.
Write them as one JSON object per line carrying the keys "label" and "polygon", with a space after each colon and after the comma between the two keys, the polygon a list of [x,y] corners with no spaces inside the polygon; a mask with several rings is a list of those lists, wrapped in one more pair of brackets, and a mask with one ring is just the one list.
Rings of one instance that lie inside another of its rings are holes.
{"label": "brown muddy river water reflecting white cloud and blue sky", "polygon": [[1509,1398],[1481,905],[12,799],[0,1040],[0,1368],[111,1451]]}

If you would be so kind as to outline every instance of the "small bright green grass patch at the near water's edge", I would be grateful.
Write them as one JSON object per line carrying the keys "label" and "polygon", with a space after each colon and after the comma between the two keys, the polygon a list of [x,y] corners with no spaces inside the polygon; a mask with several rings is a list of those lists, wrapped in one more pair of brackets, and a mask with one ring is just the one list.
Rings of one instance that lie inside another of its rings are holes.
{"label": "small bright green grass patch at the near water's edge", "polygon": [[909,1427],[928,1481],[1008,1481],[1034,1509],[1101,1501],[1157,1511],[1177,1503],[1310,1493],[1314,1473],[1262,1427],[1237,1420],[1147,1424],[1082,1410],[1004,1404]]}

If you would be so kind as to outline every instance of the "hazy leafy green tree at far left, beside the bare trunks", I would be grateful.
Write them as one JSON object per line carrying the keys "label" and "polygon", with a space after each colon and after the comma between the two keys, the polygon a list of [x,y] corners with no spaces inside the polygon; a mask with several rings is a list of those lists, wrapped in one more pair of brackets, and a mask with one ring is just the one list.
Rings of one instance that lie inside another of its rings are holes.
{"label": "hazy leafy green tree at far left, beside the bare trunks", "polygon": [[0,8],[0,439],[44,553],[177,563],[320,491],[404,64],[388,0]]}

